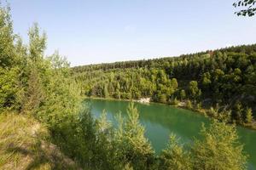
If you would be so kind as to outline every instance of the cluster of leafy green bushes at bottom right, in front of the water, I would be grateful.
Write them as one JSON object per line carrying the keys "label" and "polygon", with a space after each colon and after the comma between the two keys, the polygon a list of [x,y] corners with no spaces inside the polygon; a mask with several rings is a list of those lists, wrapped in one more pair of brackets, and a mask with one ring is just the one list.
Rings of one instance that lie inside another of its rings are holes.
{"label": "cluster of leafy green bushes at bottom right, in front of the water", "polygon": [[247,156],[237,144],[235,126],[213,121],[210,127],[202,127],[201,135],[189,150],[171,135],[170,144],[160,155],[161,169],[246,169]]}

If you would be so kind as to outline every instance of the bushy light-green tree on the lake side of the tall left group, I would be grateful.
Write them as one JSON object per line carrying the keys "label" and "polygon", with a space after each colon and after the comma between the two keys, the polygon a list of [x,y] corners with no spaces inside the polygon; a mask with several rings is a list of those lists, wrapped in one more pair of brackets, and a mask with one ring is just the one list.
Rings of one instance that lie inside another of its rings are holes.
{"label": "bushy light-green tree on the lake side of the tall left group", "polygon": [[61,126],[61,122],[65,122],[70,116],[76,116],[83,105],[80,103],[79,86],[70,77],[67,60],[58,54],[53,54],[48,59],[39,62],[44,68],[38,70],[44,101],[40,105],[38,117],[55,127]]}

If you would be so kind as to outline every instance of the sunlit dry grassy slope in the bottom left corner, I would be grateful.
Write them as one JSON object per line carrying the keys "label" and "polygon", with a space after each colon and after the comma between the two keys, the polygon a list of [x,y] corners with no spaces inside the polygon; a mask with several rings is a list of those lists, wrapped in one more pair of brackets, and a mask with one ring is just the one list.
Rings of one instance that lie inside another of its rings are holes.
{"label": "sunlit dry grassy slope in the bottom left corner", "polygon": [[44,125],[29,116],[0,114],[0,169],[80,169],[55,144]]}

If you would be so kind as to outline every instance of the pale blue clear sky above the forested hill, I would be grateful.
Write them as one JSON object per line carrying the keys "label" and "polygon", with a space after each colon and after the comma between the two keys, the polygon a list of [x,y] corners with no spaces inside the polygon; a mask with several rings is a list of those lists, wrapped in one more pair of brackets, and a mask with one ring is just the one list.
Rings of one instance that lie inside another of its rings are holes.
{"label": "pale blue clear sky above the forested hill", "polygon": [[9,0],[15,33],[34,22],[45,54],[71,65],[152,59],[256,42],[256,16],[238,17],[235,0]]}

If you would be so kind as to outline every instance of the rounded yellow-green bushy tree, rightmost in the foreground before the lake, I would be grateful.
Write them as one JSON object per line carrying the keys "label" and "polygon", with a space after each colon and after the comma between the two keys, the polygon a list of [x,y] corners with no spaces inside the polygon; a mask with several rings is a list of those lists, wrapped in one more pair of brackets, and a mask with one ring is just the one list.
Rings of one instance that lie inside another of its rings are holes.
{"label": "rounded yellow-green bushy tree, rightmost in the foreground before the lake", "polygon": [[192,146],[194,169],[247,169],[235,125],[212,121],[210,127],[202,126],[201,137]]}

